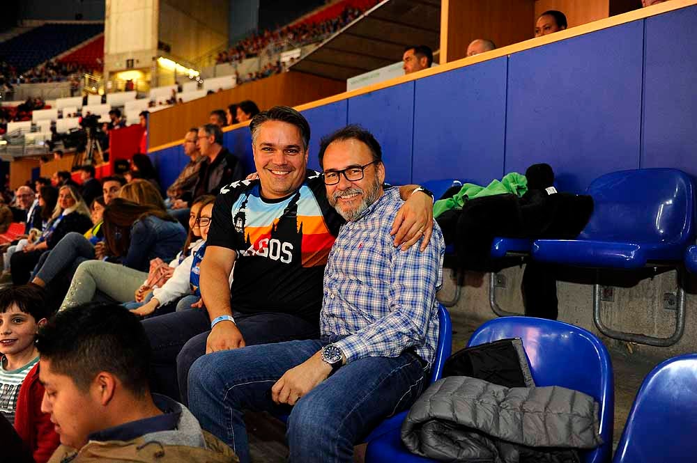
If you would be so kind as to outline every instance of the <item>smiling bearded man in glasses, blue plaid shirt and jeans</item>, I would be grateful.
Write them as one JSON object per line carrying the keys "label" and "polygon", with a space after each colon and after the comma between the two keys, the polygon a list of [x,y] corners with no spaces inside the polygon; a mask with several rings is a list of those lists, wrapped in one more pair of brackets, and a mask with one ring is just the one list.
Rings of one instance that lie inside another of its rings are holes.
{"label": "smiling bearded man in glasses, blue plaid shirt and jeans", "polygon": [[434,225],[423,252],[395,248],[402,202],[396,188],[383,189],[382,152],[369,132],[335,132],[319,159],[328,200],[347,221],[325,267],[321,338],[214,352],[189,373],[194,415],[243,463],[244,409],[291,410],[291,462],[352,462],[356,443],[418,398],[434,360],[441,230]]}

